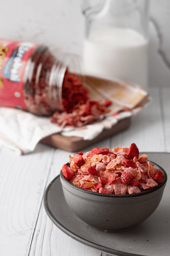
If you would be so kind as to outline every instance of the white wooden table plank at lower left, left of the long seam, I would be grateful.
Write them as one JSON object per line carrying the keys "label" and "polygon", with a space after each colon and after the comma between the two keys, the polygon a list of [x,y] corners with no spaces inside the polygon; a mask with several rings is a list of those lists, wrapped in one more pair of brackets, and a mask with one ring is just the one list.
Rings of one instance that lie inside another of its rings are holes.
{"label": "white wooden table plank at lower left, left of the long seam", "polygon": [[32,154],[0,151],[0,255],[27,254],[54,149],[39,144]]}

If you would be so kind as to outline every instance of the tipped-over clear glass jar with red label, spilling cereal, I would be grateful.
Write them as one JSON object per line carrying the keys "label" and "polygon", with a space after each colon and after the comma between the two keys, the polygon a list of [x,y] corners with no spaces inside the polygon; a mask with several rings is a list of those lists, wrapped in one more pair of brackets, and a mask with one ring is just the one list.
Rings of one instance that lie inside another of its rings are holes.
{"label": "tipped-over clear glass jar with red label, spilling cereal", "polygon": [[56,110],[71,112],[78,102],[87,101],[77,55],[53,55],[44,45],[5,39],[0,39],[0,47],[1,106],[51,116]]}

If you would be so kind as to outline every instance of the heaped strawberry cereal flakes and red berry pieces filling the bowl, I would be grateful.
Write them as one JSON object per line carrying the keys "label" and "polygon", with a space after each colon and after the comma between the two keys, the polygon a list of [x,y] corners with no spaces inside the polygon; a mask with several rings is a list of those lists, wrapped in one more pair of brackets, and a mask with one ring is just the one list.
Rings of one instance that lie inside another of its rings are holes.
{"label": "heaped strawberry cereal flakes and red berry pieces filling the bowl", "polygon": [[104,194],[133,194],[156,187],[163,181],[163,172],[139,156],[135,143],[129,148],[95,148],[73,157],[62,167],[63,176],[82,189]]}

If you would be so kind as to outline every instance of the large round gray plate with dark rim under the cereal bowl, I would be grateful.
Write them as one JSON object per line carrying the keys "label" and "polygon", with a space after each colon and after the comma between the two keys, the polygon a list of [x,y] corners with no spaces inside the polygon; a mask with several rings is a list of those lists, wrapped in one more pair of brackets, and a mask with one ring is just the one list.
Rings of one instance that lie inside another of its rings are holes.
{"label": "large round gray plate with dark rim under the cereal bowl", "polygon": [[[144,154],[144,153],[140,153]],[[47,187],[44,207],[52,222],[75,240],[111,255],[170,256],[170,154],[145,153],[167,172],[167,185],[156,211],[135,228],[108,233],[88,227],[67,205],[57,176]]]}

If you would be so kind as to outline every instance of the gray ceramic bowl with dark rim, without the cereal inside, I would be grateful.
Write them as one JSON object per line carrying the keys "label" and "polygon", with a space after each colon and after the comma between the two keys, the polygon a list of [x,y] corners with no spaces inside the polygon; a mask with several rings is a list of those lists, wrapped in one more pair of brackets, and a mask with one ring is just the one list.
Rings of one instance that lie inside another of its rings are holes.
{"label": "gray ceramic bowl with dark rim, without the cereal inside", "polygon": [[155,166],[164,172],[163,182],[151,190],[130,195],[109,195],[84,190],[71,184],[60,171],[64,197],[74,214],[92,228],[107,232],[128,230],[146,220],[161,201],[167,173],[159,165]]}

